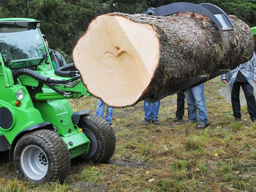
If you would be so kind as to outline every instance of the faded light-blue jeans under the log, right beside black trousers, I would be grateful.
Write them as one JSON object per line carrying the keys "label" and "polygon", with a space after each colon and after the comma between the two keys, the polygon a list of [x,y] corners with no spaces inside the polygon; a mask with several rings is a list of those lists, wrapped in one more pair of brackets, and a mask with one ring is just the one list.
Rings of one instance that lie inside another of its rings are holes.
{"label": "faded light-blue jeans under the log, right beside black trousers", "polygon": [[[204,98],[204,86],[198,85],[188,91],[185,91],[185,97],[188,103],[189,122],[197,122],[207,125],[207,111]],[[197,117],[198,110],[198,117]]]}

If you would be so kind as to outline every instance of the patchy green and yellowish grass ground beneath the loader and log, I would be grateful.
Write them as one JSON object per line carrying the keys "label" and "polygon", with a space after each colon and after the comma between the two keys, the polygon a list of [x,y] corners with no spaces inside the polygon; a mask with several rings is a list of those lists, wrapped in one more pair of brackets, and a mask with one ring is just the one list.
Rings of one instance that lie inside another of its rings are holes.
{"label": "patchy green and yellowish grass ground beneath the loader and log", "polygon": [[[231,105],[219,95],[219,77],[205,83],[209,126],[196,129],[187,110],[179,123],[176,95],[161,101],[161,125],[142,125],[143,102],[115,109],[116,151],[107,164],[72,160],[64,184],[27,183],[18,178],[8,153],[0,153],[0,191],[6,192],[256,192],[256,125],[246,106],[234,123]],[[114,94],[114,93],[113,93]],[[97,99],[70,100],[73,110],[95,113]]]}

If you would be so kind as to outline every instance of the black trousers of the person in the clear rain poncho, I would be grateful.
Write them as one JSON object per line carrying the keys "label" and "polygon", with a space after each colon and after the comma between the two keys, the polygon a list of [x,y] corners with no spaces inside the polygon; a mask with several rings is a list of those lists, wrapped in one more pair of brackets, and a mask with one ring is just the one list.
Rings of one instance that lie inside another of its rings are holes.
{"label": "black trousers of the person in the clear rain poncho", "polygon": [[253,87],[248,82],[234,82],[232,92],[231,92],[231,103],[233,108],[233,116],[235,118],[241,118],[241,106],[240,106],[240,86],[245,93],[247,109],[251,119],[256,118],[256,101],[253,95]]}

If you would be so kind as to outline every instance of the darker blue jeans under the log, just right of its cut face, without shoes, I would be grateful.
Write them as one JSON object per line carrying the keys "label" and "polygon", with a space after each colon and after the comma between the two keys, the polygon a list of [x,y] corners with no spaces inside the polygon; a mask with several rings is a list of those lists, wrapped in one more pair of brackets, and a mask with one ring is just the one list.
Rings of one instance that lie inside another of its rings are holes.
{"label": "darker blue jeans under the log, just right of its cut face, without shoes", "polygon": [[160,107],[160,100],[153,102],[153,106],[152,106],[152,102],[144,101],[144,111],[145,111],[144,118],[152,119],[152,120],[158,119],[157,116],[158,116],[159,107]]}

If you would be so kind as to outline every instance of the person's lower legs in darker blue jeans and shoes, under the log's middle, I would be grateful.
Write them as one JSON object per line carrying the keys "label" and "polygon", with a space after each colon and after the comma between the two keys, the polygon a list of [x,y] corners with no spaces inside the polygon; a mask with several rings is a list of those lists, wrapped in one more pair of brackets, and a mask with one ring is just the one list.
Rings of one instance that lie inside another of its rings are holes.
{"label": "person's lower legs in darker blue jeans and shoes, under the log's middle", "polygon": [[154,123],[155,125],[159,125],[161,122],[158,120],[158,111],[160,107],[160,100],[155,102],[144,101],[144,125],[148,125],[149,123]]}

